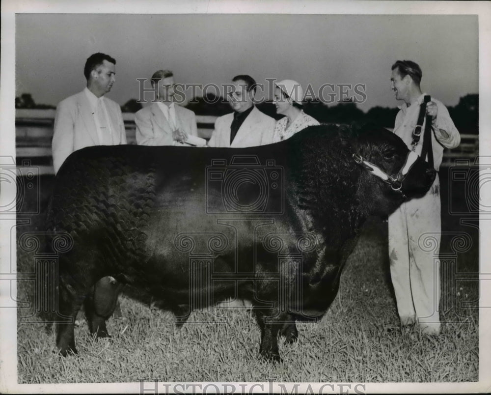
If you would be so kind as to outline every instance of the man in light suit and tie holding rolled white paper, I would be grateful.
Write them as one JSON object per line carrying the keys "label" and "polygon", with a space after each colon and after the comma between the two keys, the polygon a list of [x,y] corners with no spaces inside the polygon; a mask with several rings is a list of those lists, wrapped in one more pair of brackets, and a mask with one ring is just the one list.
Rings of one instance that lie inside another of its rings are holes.
{"label": "man in light suit and tie holding rolled white paper", "polygon": [[174,102],[174,76],[170,70],[156,71],[151,79],[157,101],[135,114],[139,145],[190,145],[198,136],[196,115]]}

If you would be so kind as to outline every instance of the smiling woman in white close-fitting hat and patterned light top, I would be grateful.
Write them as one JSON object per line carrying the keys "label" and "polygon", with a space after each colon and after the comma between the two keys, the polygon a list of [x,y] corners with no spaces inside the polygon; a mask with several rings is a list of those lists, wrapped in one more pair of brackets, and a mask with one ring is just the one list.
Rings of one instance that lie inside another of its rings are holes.
{"label": "smiling woman in white close-fitting hat and patterned light top", "polygon": [[276,121],[273,142],[292,137],[307,126],[319,125],[319,122],[303,112],[303,89],[293,80],[283,80],[275,84],[273,104],[276,113],[286,115]]}

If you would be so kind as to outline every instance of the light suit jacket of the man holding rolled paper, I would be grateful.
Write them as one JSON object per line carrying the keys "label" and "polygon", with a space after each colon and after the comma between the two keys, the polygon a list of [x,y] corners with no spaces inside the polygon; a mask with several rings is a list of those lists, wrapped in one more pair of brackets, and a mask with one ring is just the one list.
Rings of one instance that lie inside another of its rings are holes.
{"label": "light suit jacket of the man holding rolled paper", "polygon": [[[188,135],[198,136],[196,115],[184,107],[174,104],[176,123]],[[135,114],[136,143],[138,145],[189,145],[174,142],[172,127],[157,103],[139,110]]]}

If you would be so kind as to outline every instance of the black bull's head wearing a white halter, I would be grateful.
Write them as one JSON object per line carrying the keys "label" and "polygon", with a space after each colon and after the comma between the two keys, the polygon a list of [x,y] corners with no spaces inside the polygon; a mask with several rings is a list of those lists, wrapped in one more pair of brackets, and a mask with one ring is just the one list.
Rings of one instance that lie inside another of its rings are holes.
{"label": "black bull's head wearing a white halter", "polygon": [[354,165],[364,169],[363,178],[376,179],[360,191],[361,198],[371,200],[371,214],[389,214],[404,200],[423,196],[435,180],[436,170],[386,129],[365,127],[355,151]]}

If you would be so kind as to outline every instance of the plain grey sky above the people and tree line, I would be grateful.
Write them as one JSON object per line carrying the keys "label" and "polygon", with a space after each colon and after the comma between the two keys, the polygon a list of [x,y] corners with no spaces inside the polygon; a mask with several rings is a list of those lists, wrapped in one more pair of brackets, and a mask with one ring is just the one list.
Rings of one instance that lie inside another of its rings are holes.
{"label": "plain grey sky above the people and tree line", "polygon": [[52,105],[82,90],[95,52],[116,59],[108,96],[120,104],[138,97],[137,78],[164,68],[178,83],[224,84],[245,73],[316,92],[365,84],[364,111],[400,104],[389,81],[397,59],[418,62],[422,89],[446,105],[479,90],[473,15],[18,14],[15,46],[16,95]]}

